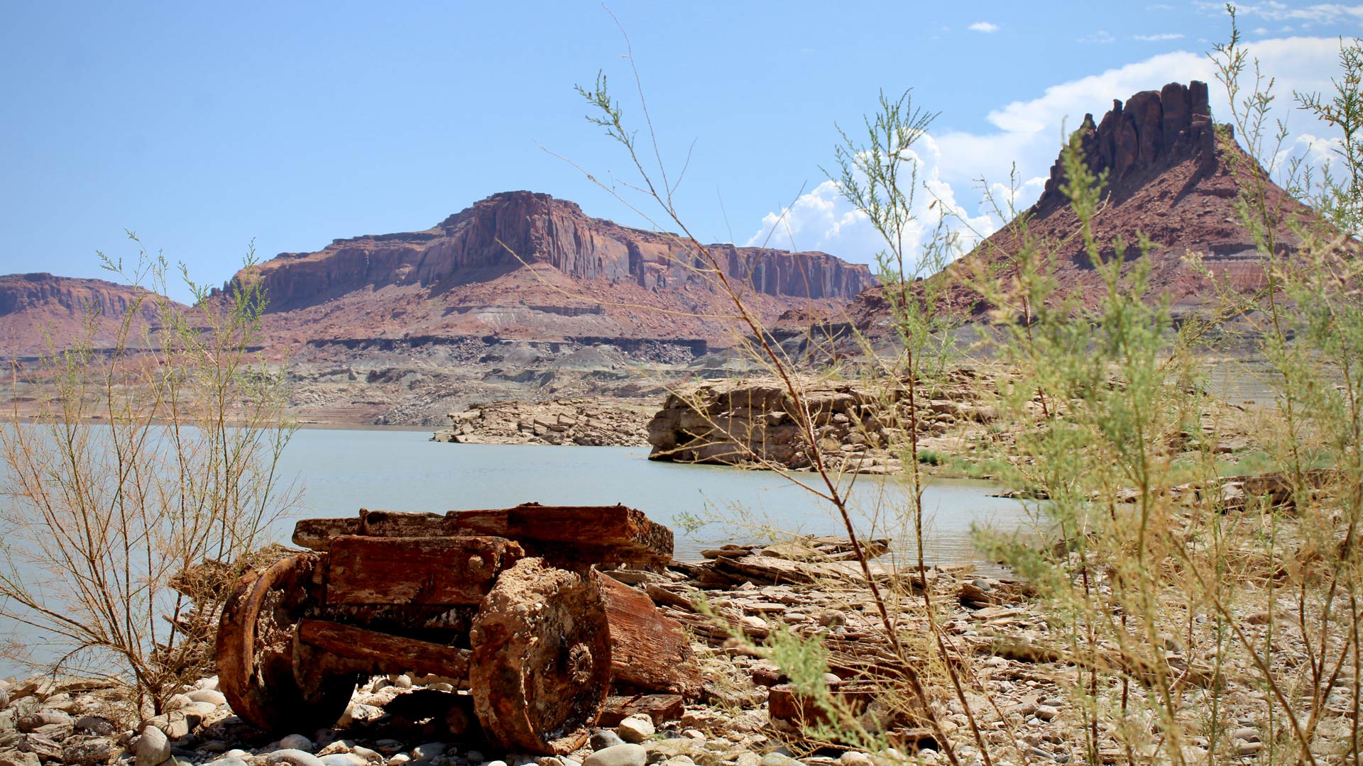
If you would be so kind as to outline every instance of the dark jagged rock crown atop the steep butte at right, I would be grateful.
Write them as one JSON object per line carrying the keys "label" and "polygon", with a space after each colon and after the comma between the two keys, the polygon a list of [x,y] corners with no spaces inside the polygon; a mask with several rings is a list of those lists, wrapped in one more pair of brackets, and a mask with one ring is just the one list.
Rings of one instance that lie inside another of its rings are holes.
{"label": "dark jagged rock crown atop the steep butte at right", "polygon": [[[1085,114],[1077,132],[1089,168],[1094,174],[1107,172],[1105,191],[1118,199],[1178,162],[1216,164],[1216,129],[1205,82],[1142,90],[1126,104],[1114,99],[1101,121],[1094,125],[1093,116]],[[1063,162],[1056,158],[1033,209],[1037,215],[1069,203],[1063,183]]]}

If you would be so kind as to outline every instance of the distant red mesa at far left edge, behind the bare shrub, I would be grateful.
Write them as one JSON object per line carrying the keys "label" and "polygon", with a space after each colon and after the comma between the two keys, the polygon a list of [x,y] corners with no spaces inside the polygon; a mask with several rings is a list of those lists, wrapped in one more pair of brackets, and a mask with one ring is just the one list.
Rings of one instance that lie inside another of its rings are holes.
{"label": "distant red mesa at far left edge, behind the bare shrub", "polygon": [[65,346],[86,331],[86,309],[93,307],[97,345],[112,342],[123,318],[139,298],[134,343],[140,330],[155,323],[151,293],[116,285],[104,279],[78,279],[52,274],[0,275],[0,357],[23,357],[44,353],[48,337]]}

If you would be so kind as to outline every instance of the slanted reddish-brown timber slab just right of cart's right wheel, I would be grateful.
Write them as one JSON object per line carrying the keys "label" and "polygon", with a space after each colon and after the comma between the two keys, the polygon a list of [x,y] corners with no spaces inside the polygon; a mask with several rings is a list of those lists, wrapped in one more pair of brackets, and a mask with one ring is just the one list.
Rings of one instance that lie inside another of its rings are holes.
{"label": "slanted reddish-brown timber slab just right of cart's right wheel", "polygon": [[682,623],[664,617],[647,594],[596,572],[611,624],[611,668],[616,683],[694,698],[701,668]]}

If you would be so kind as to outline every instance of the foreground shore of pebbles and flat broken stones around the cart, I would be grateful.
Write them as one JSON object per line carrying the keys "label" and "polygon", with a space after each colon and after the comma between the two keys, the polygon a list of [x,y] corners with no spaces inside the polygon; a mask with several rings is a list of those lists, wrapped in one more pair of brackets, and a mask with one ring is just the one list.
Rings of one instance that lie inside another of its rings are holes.
{"label": "foreground shore of pebbles and flat broken stones around the cart", "polygon": [[[872,541],[872,553],[886,551]],[[139,718],[108,681],[31,677],[0,681],[0,766],[124,763],[158,766],[872,766],[943,761],[936,733],[921,720],[878,701],[898,694],[875,667],[897,662],[870,590],[846,541],[796,538],[776,545],[726,545],[702,563],[673,562],[662,571],[612,570],[615,579],[646,593],[694,637],[703,687],[698,699],[676,695],[613,698],[587,747],[563,756],[493,751],[466,710],[468,696],[448,694],[435,676],[373,677],[353,695],[334,728],[263,735],[237,718],[206,677],[172,699],[169,713]],[[917,570],[876,564],[882,582]],[[1066,702],[1078,669],[1066,660],[1056,627],[1026,598],[1029,586],[979,577],[969,566],[928,567],[923,581],[939,609],[942,630],[964,672],[966,694],[996,763],[1082,761],[1084,720]],[[902,592],[904,582],[900,582]],[[890,589],[883,589],[890,590]],[[912,589],[910,589],[912,590]],[[1262,616],[1244,615],[1246,624]],[[900,597],[897,620],[906,635],[925,634],[921,598]],[[1293,630],[1283,622],[1278,630]],[[897,743],[893,751],[806,740],[810,714],[781,668],[756,649],[774,631],[818,638],[827,650],[825,683],[836,694],[863,698],[864,724]],[[1227,668],[1208,672],[1197,647],[1167,639],[1169,662],[1184,668],[1190,699],[1219,695],[1239,728],[1220,743],[1234,756],[1254,756],[1264,692]],[[983,694],[983,692],[987,694]],[[879,705],[879,706],[878,706]],[[965,709],[953,698],[934,701],[939,731],[962,763],[981,762]],[[642,713],[635,713],[642,710]],[[1104,761],[1119,759],[1111,728],[1103,732]],[[1184,746],[1205,761],[1206,741]],[[1216,752],[1219,755],[1221,750]],[[1002,756],[1002,759],[1000,759]]]}

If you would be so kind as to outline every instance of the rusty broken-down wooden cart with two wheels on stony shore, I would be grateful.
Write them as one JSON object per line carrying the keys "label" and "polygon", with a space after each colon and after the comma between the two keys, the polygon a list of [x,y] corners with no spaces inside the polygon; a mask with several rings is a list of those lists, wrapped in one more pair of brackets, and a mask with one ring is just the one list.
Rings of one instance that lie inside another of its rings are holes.
{"label": "rusty broken-down wooden cart with two wheels on stony shore", "polygon": [[358,680],[414,671],[469,690],[492,741],[563,754],[605,706],[612,645],[616,680],[696,686],[680,626],[592,571],[671,560],[672,532],[634,508],[361,510],[293,541],[311,551],[247,574],[218,630],[221,690],[262,729],[328,726]]}

